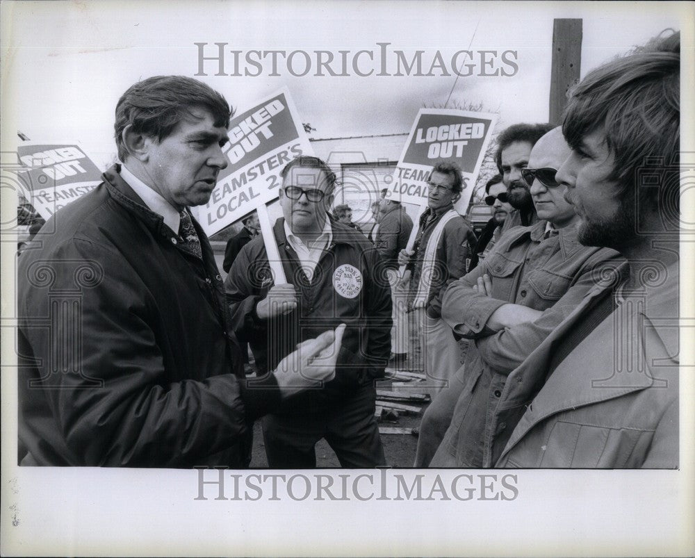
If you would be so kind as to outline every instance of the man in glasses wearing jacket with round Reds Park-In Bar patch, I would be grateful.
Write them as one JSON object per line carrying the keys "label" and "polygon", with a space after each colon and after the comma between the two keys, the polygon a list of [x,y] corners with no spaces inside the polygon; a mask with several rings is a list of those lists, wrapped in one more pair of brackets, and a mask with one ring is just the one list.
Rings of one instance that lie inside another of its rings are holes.
{"label": "man in glasses wearing jacket with round Reds Park-In Bar patch", "polygon": [[273,284],[261,238],[246,245],[225,281],[235,330],[250,342],[262,375],[315,331],[347,328],[335,379],[263,420],[268,466],[316,467],[321,438],[343,467],[384,465],[374,380],[391,352],[391,292],[377,277],[378,252],[329,218],[336,177],[326,163],[301,156],[281,177],[283,218],[273,232],[289,283]]}

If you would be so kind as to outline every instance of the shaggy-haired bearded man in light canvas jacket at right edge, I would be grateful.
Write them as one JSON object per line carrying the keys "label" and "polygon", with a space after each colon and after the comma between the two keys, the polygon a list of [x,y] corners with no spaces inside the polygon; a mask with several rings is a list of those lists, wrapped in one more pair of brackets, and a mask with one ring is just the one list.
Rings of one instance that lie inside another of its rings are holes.
{"label": "shaggy-haired bearded man in light canvas jacket at right edge", "polygon": [[562,132],[578,238],[627,264],[509,375],[484,464],[677,468],[680,33],[587,74]]}

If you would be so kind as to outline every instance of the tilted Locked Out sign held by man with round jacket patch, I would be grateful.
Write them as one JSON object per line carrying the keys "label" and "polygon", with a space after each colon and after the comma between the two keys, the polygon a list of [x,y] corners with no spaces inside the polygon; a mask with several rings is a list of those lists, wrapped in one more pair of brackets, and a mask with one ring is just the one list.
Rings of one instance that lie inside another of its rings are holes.
{"label": "tilted Locked Out sign held by man with round jacket patch", "polygon": [[210,201],[197,208],[208,236],[276,199],[282,167],[298,155],[313,155],[287,88],[234,117],[229,140],[223,148],[229,164]]}

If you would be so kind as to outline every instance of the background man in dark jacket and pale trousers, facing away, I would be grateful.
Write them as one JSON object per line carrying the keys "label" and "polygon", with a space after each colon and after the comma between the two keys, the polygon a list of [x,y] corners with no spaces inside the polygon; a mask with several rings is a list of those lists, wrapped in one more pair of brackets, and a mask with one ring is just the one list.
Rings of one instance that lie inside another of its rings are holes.
{"label": "background man in dark jacket and pale trousers, facing away", "polygon": [[381,256],[382,268],[391,285],[391,356],[390,364],[399,368],[408,358],[408,286],[398,277],[398,253],[406,247],[413,230],[413,220],[405,208],[393,199],[383,198],[379,204],[381,218],[375,246]]}

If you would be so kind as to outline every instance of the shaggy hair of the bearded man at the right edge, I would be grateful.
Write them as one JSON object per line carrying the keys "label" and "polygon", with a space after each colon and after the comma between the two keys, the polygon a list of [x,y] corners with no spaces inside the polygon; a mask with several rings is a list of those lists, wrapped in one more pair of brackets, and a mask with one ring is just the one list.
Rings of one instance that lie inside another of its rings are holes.
{"label": "shaggy hair of the bearded man at the right edge", "polygon": [[[562,122],[567,143],[577,149],[597,129],[603,129],[614,155],[608,179],[616,181],[619,195],[638,188],[637,171],[646,164],[652,169],[678,165],[680,33],[594,69],[572,90]],[[642,199],[660,194],[660,188],[641,190]],[[665,181],[661,190],[678,204],[677,180]]]}

